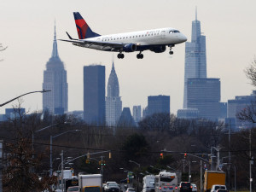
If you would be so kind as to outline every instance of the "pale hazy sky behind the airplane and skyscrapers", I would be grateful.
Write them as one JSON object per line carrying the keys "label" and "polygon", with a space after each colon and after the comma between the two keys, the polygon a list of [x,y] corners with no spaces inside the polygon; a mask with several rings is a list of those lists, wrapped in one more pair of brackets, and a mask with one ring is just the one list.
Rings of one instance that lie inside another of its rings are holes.
{"label": "pale hazy sky behind the airplane and skyscrapers", "polygon": [[[79,11],[90,28],[99,34],[132,32],[173,27],[191,40],[195,6],[201,32],[207,36],[207,76],[221,79],[221,101],[249,95],[243,70],[256,53],[255,0],[9,0],[0,6],[0,43],[8,46],[0,52],[0,103],[32,90],[42,90],[43,73],[52,51],[54,22],[57,38],[78,34],[73,12]],[[83,67],[92,63],[106,66],[106,84],[114,58],[123,107],[147,106],[147,96],[171,96],[171,111],[183,108],[185,44],[155,54],[144,51],[116,53],[84,49],[58,41],[61,61],[67,69],[68,110],[83,110]],[[12,102],[2,108],[12,108]],[[42,109],[42,94],[23,97],[30,112]]]}

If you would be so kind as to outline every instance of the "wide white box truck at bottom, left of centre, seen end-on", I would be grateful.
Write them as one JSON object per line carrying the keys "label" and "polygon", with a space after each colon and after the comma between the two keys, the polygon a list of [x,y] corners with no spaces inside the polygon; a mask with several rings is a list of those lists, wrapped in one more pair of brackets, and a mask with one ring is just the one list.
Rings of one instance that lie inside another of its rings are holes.
{"label": "wide white box truck at bottom, left of centre, seen end-on", "polygon": [[80,192],[102,192],[102,174],[79,174]]}

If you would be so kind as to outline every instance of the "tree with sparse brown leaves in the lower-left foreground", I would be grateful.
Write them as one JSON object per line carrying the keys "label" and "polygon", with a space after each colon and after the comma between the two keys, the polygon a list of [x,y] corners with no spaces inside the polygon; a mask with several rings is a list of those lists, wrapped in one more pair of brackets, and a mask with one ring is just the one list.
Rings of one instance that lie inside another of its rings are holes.
{"label": "tree with sparse brown leaves in the lower-left foreground", "polygon": [[[3,170],[3,191],[31,192],[50,189],[56,177],[43,176],[38,172],[49,169],[44,166],[45,154],[35,154],[32,149],[32,130],[36,125],[37,115],[26,116],[20,110],[20,103],[14,108],[15,118],[9,119],[9,139],[4,145],[7,154]],[[36,117],[36,118],[35,118]],[[33,120],[32,120],[33,119]]]}

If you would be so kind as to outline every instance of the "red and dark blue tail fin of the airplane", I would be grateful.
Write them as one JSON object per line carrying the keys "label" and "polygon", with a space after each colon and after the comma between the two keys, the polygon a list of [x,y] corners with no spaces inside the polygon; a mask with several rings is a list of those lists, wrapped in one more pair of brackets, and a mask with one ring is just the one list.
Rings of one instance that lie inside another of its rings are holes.
{"label": "red and dark blue tail fin of the airplane", "polygon": [[92,32],[90,26],[87,25],[83,17],[79,14],[79,12],[73,12],[73,16],[76,22],[77,30],[79,33],[79,39],[83,38],[94,38],[101,36],[96,32]]}

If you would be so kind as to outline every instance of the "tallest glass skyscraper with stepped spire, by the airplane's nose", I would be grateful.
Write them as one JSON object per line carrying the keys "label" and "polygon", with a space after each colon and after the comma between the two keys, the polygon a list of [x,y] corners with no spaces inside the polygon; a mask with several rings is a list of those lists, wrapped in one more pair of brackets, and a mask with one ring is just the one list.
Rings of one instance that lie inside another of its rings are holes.
{"label": "tallest glass skyscraper with stepped spire, by the airplane's nose", "polygon": [[189,78],[207,78],[207,49],[206,36],[201,35],[201,23],[197,20],[195,10],[195,20],[192,21],[191,42],[185,44],[185,76],[183,108],[188,108],[187,81]]}

